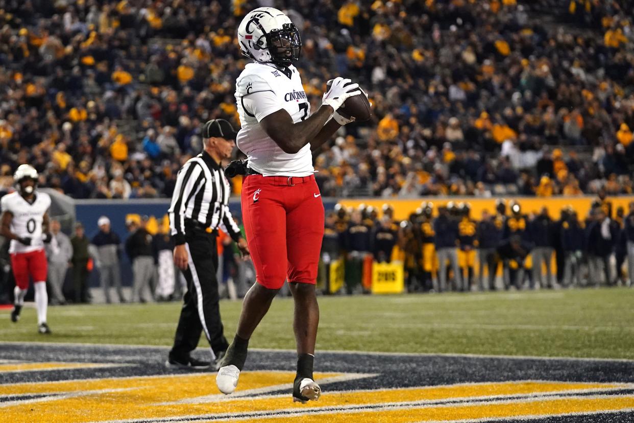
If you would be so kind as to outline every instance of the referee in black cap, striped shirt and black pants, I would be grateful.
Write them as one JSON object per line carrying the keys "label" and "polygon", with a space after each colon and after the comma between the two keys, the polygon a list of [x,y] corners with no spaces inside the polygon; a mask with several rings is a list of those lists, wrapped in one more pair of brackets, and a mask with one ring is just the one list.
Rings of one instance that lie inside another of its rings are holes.
{"label": "referee in black cap, striped shirt and black pants", "polygon": [[238,243],[243,256],[249,255],[247,241],[240,235],[229,211],[231,192],[220,162],[229,159],[236,132],[224,119],[209,120],[202,127],[203,152],[188,160],[178,173],[169,225],[174,240],[174,264],[183,271],[187,292],[174,337],[174,346],[165,362],[168,368],[204,369],[209,361],[190,357],[198,345],[200,332],[211,347],[212,360],[224,355],[229,346],[223,334],[218,306],[219,228]]}

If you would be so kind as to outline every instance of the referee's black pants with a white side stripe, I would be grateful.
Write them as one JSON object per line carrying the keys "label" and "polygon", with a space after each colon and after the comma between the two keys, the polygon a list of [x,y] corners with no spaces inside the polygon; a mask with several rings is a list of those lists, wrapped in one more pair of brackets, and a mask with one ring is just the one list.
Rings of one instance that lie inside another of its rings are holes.
{"label": "referee's black pants with a white side stripe", "polygon": [[169,358],[187,361],[198,345],[200,333],[204,332],[215,360],[229,346],[223,334],[218,304],[216,235],[202,230],[190,231],[185,235],[185,247],[189,255],[188,268],[183,272],[187,292]]}

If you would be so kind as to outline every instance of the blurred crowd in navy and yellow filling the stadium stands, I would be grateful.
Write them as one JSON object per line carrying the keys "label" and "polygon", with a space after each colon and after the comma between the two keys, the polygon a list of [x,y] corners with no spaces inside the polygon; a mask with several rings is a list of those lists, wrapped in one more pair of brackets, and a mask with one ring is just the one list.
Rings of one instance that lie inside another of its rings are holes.
{"label": "blurred crowd in navy and yellow filling the stadium stands", "polygon": [[169,197],[200,123],[237,124],[235,30],[259,5],[301,29],[313,110],[337,75],[373,102],[315,153],[324,195],[633,190],[629,0],[1,4],[0,190],[29,163],[75,198]]}

